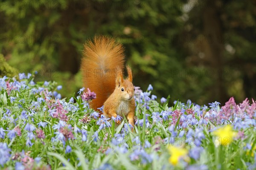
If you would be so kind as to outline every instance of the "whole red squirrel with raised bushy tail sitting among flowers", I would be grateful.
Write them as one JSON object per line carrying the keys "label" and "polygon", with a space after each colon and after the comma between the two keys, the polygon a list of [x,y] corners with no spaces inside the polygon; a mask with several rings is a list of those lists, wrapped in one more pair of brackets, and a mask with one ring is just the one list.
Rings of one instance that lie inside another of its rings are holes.
{"label": "whole red squirrel with raised bushy tail sitting among flowers", "polygon": [[[103,106],[107,118],[126,116],[134,126],[134,85],[132,71],[127,65],[128,77],[124,79],[124,48],[113,39],[100,36],[84,44],[81,71],[85,88],[96,93],[90,108],[98,110]],[[120,124],[120,121],[116,121]]]}

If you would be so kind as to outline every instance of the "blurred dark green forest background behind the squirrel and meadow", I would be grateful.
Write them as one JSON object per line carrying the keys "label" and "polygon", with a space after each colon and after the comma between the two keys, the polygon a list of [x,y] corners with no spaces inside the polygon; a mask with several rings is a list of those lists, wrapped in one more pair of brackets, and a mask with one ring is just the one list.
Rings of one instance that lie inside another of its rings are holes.
{"label": "blurred dark green forest background behind the squirrel and meadow", "polygon": [[158,99],[170,94],[170,102],[221,105],[230,96],[237,102],[256,99],[255,0],[1,0],[0,5],[0,54],[16,75],[38,71],[35,81],[63,85],[63,97],[82,87],[84,42],[102,34],[125,46],[134,85],[145,91],[152,84]]}

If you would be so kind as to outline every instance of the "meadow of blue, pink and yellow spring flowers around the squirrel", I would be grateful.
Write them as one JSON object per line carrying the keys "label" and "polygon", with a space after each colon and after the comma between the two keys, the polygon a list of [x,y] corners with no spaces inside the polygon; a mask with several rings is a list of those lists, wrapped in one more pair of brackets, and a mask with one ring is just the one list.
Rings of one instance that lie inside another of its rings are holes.
{"label": "meadow of blue, pink and yellow spring flowers around the squirrel", "polygon": [[132,127],[90,109],[90,89],[62,99],[56,82],[19,79],[0,78],[1,169],[256,169],[253,99],[169,106],[136,87]]}

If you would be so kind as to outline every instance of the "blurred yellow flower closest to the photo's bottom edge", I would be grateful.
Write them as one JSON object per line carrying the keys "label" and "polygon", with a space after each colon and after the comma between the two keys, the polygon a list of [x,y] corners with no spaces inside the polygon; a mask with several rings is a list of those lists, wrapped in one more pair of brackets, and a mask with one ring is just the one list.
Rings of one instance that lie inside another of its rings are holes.
{"label": "blurred yellow flower closest to the photo's bottom edge", "polygon": [[185,161],[189,161],[189,157],[187,156],[188,151],[186,149],[169,145],[168,150],[171,154],[171,157],[169,158],[169,162],[171,164],[176,165],[180,158],[183,158]]}

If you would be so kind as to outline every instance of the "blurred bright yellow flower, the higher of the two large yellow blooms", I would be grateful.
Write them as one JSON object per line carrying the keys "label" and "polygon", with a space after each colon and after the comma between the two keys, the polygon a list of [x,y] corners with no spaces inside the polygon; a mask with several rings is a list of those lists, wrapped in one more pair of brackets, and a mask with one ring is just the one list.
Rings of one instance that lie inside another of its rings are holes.
{"label": "blurred bright yellow flower, the higher of the two large yellow blooms", "polygon": [[231,125],[221,127],[215,130],[212,134],[218,136],[217,141],[219,141],[221,145],[230,144],[233,141],[233,137],[236,136],[236,132],[233,131]]}

